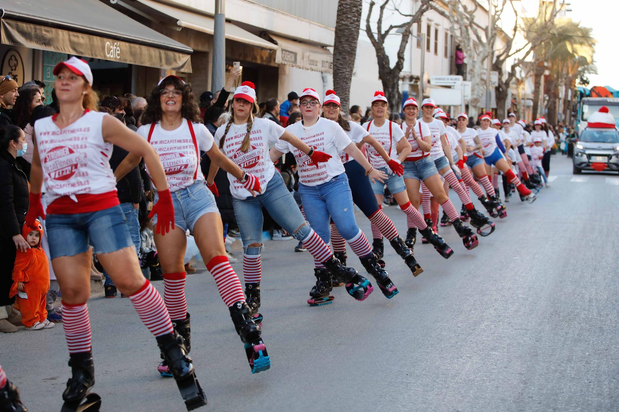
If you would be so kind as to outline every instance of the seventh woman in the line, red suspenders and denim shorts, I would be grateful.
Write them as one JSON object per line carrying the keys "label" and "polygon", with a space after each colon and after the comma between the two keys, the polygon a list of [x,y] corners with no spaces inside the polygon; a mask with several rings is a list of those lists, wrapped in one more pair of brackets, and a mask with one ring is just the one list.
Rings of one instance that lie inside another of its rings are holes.
{"label": "seventh woman in the line, red suspenders and denim shorts", "polygon": [[[443,185],[438,177],[436,166],[430,158],[430,148],[432,147],[430,129],[425,123],[417,121],[419,111],[417,101],[409,98],[404,102],[402,111],[404,112],[404,122],[400,124],[400,129],[404,132],[404,136],[412,148],[404,161],[404,184],[409,199],[417,210],[419,207],[420,182],[425,182],[431,188],[431,191],[435,191],[438,195],[443,191]],[[409,247],[412,248],[417,241],[417,228],[423,239],[430,242],[445,259],[449,259],[449,256],[454,253],[451,247],[432,230],[431,225],[428,225],[426,221],[419,222],[418,227],[409,227],[409,231],[406,233],[406,244]]]}

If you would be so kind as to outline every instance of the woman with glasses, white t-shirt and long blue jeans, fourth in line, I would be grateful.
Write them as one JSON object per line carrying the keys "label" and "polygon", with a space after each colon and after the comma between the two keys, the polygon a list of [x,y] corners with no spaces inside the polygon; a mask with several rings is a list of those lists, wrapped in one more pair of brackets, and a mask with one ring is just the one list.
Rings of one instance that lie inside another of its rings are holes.
{"label": "woman with glasses, white t-shirt and long blue jeans, fourth in line", "polygon": [[[320,97],[316,90],[303,89],[299,100],[303,120],[288,126],[286,130],[314,150],[322,150],[332,157],[316,169],[305,153],[290,143],[279,140],[271,149],[271,159],[275,160],[284,153],[293,153],[298,166],[299,193],[305,216],[313,230],[326,244],[329,244],[331,238],[329,217],[331,217],[339,233],[348,241],[353,252],[361,260],[365,270],[376,279],[383,294],[387,298],[392,298],[397,293],[397,288],[389,279],[389,273],[379,265],[368,239],[357,226],[348,178],[338,153],[347,153],[357,160],[365,170],[365,176],[370,176],[371,180],[382,180],[386,178],[386,175],[370,166],[363,153],[348,139],[339,124],[320,117]],[[316,267],[320,268],[318,263],[316,262]],[[373,287],[370,281],[361,275],[357,276],[359,279],[352,281],[337,280],[347,283],[346,289],[355,299],[363,300],[368,297]],[[316,271],[316,279],[316,286],[312,289],[310,296],[319,292],[326,293],[328,296],[332,290],[331,275],[326,271]]]}

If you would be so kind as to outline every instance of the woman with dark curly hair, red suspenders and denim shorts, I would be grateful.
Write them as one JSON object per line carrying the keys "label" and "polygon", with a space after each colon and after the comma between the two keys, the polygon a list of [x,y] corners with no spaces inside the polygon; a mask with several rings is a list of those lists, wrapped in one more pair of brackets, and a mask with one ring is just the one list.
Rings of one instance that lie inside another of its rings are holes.
{"label": "woman with dark curly hair, red suspenders and denim shorts", "polygon": [[[200,168],[200,151],[206,152],[214,163],[233,174],[239,185],[247,189],[249,194],[256,195],[260,192],[260,182],[255,176],[236,166],[213,144],[213,136],[206,126],[199,122],[200,109],[191,85],[175,75],[168,75],[150,92],[147,102],[142,114],[142,126],[137,133],[147,140],[159,155],[175,205],[175,221],[165,238],[158,233],[158,224],[154,222],[157,225],[155,244],[165,282],[163,299],[174,320],[175,328],[189,341],[191,325],[184,293],[184,254],[187,245],[186,231],[190,230],[193,231],[206,268],[215,278],[219,294],[230,310],[236,332],[245,343],[246,349],[253,348],[246,351],[252,372],[269,369],[271,363],[260,337],[260,327],[254,324],[249,315],[243,287],[228,262],[223,244],[222,220],[215,197],[207,189]],[[137,165],[137,161],[139,158],[125,158],[116,169],[117,178],[121,178],[127,168]],[[148,168],[147,172],[150,173]],[[168,376],[165,361],[160,364],[158,371],[162,376]]]}

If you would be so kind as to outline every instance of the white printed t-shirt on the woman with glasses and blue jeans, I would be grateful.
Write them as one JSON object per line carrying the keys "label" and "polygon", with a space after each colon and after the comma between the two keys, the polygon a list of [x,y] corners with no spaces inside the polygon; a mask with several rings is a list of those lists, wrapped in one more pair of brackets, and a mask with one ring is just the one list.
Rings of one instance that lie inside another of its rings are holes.
{"label": "white printed t-shirt on the woman with glasses and blue jeans", "polygon": [[331,158],[318,163],[318,168],[310,163],[309,156],[301,152],[284,140],[278,140],[275,148],[282,153],[292,153],[297,160],[299,182],[305,186],[318,186],[329,182],[335,176],[344,173],[344,165],[340,160],[339,152],[342,152],[352,143],[344,133],[344,129],[337,122],[325,118],[318,118],[313,126],[305,127],[303,122],[296,122],[286,127],[286,130],[297,136],[303,143],[331,155]]}

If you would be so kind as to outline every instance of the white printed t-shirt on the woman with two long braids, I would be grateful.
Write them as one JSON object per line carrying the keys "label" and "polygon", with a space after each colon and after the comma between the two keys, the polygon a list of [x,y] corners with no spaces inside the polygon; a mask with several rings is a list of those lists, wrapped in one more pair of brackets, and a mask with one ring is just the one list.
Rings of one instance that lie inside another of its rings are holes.
{"label": "white printed t-shirt on the woman with two long braids", "polygon": [[[219,142],[223,137],[227,124],[215,131],[215,144],[219,147]],[[267,188],[275,173],[275,166],[269,157],[269,147],[279,141],[285,129],[279,124],[269,119],[254,118],[249,132],[249,150],[241,152],[241,145],[247,135],[247,123],[231,124],[228,134],[223,142],[222,152],[226,157],[236,163],[243,171],[252,174],[260,181],[262,193]],[[230,181],[230,193],[236,199],[247,199],[251,193],[232,174],[228,173]]]}

